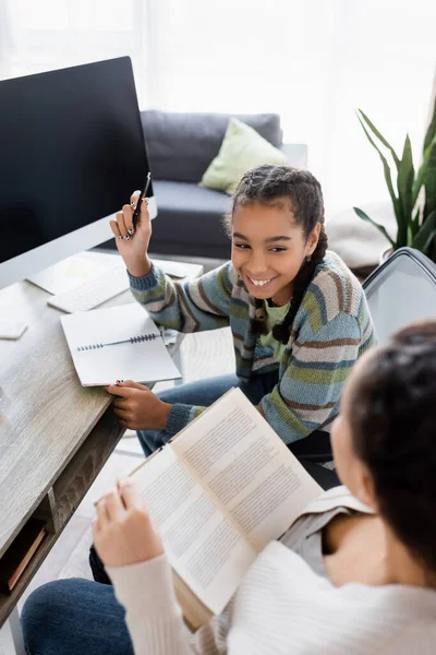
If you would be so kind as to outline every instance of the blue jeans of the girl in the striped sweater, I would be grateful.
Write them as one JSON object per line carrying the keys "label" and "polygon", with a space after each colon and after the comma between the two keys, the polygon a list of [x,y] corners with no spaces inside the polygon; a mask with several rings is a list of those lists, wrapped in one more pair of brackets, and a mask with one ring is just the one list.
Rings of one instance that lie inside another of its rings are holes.
{"label": "blue jeans of the girl in the striped sweater", "polygon": [[[264,395],[272,391],[279,380],[278,371],[253,376],[250,380],[242,381],[234,373],[218,376],[198,382],[191,382],[168,389],[158,394],[165,403],[182,403],[184,405],[201,405],[209,407],[232,386],[239,386],[253,405],[257,405]],[[165,430],[138,430],[141,445],[146,457],[155,450],[167,443],[172,437]]]}

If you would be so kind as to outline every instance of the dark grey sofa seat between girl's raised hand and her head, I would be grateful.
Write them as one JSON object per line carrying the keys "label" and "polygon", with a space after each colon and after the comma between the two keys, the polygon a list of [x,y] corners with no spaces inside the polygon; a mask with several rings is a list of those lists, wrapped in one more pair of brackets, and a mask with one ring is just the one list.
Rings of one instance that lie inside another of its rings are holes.
{"label": "dark grey sofa seat between girl's raised hand and her head", "polygon": [[154,183],[158,215],[153,222],[150,252],[230,257],[230,239],[222,216],[230,210],[225,193],[189,182],[158,180]]}

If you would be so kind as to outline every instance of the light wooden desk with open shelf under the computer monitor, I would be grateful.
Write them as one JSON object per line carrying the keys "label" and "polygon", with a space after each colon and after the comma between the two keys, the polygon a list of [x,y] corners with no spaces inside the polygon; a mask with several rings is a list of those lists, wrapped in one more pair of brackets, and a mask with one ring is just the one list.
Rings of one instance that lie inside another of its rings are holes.
{"label": "light wooden desk with open shelf under the computer monitor", "polygon": [[[190,276],[201,275],[202,266],[189,266]],[[0,315],[28,324],[21,340],[0,341],[0,558],[31,516],[44,517],[49,533],[12,594],[0,595],[0,626],[124,431],[107,412],[106,391],[81,386],[62,312],[48,296],[27,282],[0,291]],[[132,301],[125,291],[105,307]]]}

